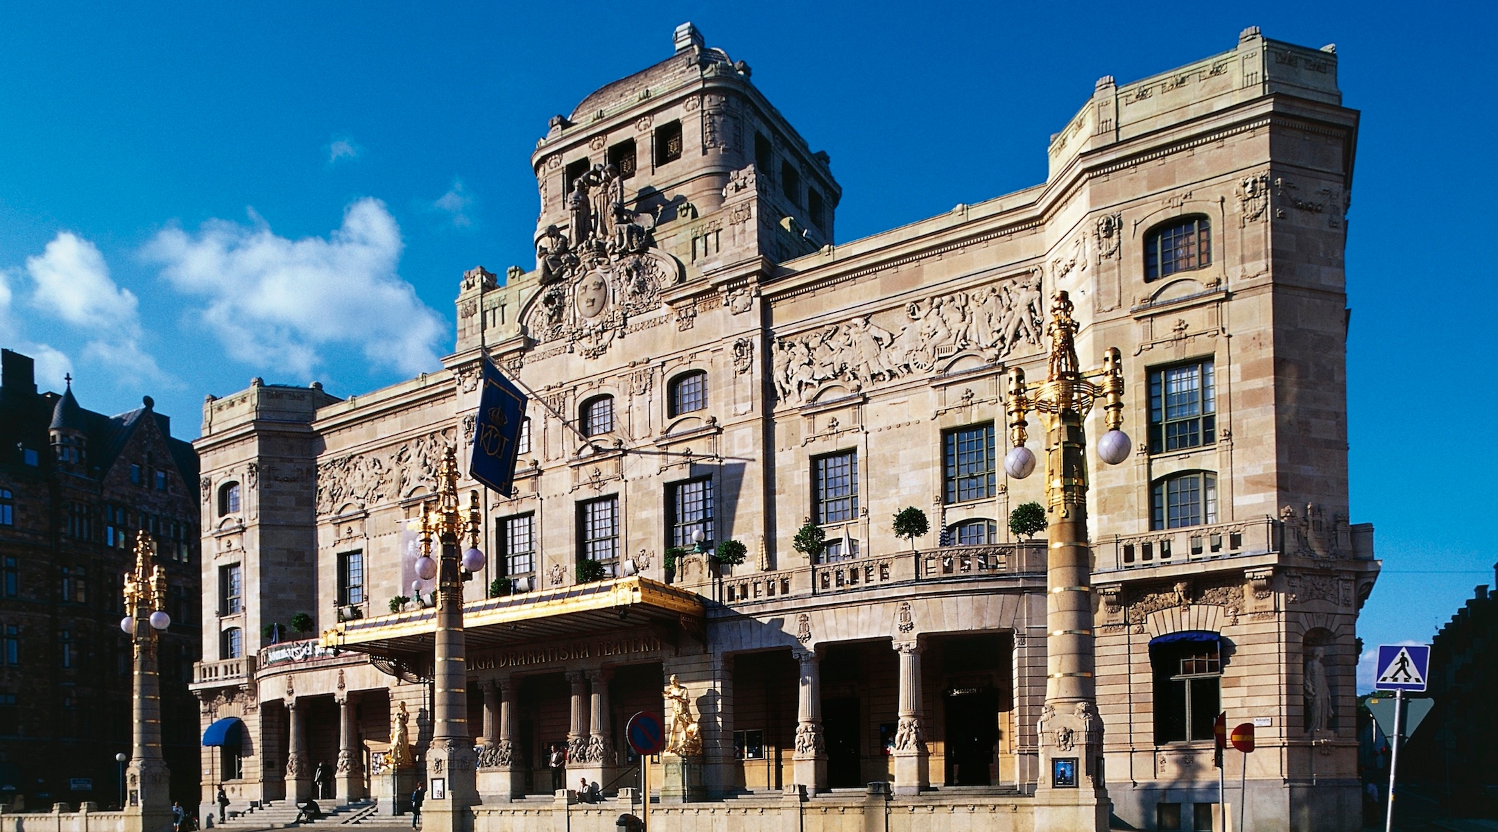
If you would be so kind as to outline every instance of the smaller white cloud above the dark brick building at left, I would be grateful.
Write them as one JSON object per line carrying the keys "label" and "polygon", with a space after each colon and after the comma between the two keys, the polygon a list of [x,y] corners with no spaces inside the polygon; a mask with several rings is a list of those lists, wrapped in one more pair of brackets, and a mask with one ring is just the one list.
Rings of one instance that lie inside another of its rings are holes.
{"label": "smaller white cloud above the dark brick building at left", "polygon": [[[25,259],[25,271],[34,283],[31,305],[79,329],[88,340],[87,358],[121,373],[121,380],[171,382],[141,349],[139,301],[109,277],[109,265],[93,242],[58,232],[40,254]],[[66,355],[46,344],[34,349],[43,377],[70,365]]]}

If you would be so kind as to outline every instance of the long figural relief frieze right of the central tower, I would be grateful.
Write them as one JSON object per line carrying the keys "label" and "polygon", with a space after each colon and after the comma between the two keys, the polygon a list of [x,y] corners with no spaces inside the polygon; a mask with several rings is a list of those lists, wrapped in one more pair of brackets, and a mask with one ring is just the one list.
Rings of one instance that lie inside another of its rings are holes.
{"label": "long figural relief frieze right of the central tower", "polygon": [[773,374],[782,401],[806,401],[822,385],[863,389],[929,373],[962,350],[999,361],[1038,346],[1044,298],[1040,275],[939,295],[774,343]]}

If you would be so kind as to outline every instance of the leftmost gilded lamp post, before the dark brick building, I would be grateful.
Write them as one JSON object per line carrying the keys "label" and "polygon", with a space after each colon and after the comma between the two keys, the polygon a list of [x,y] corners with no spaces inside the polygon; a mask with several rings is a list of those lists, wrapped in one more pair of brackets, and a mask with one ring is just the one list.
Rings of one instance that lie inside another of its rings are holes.
{"label": "leftmost gilded lamp post, before the dark brick building", "polygon": [[171,772],[162,759],[162,681],[156,669],[157,633],[171,627],[162,609],[166,602],[166,575],[151,560],[156,545],[141,531],[135,537],[135,570],[124,573],[124,609],[120,628],[130,636],[135,651],[133,729],[129,789],[124,823],[129,832],[156,832],[172,822]]}

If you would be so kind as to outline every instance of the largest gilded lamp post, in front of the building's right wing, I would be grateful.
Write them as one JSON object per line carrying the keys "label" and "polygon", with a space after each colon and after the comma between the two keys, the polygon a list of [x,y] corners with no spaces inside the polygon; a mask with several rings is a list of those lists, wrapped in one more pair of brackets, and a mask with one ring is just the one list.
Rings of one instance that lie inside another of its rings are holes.
{"label": "largest gilded lamp post, in front of the building's right wing", "polygon": [[[1025,447],[1025,416],[1046,425],[1046,513],[1050,551],[1046,558],[1046,705],[1041,709],[1037,829],[1107,829],[1109,802],[1103,777],[1103,721],[1097,709],[1097,664],[1092,633],[1092,554],[1088,546],[1088,459],[1082,422],[1103,403],[1107,432],[1098,456],[1116,465],[1128,458],[1124,423],[1124,368],[1116,347],[1103,370],[1082,373],[1074,337],[1077,322],[1065,292],[1052,298],[1050,367],[1046,382],[1026,386],[1011,368],[1004,409],[1011,450],[1004,470],[1023,479],[1035,470]],[[1041,819],[1047,819],[1041,823]]]}

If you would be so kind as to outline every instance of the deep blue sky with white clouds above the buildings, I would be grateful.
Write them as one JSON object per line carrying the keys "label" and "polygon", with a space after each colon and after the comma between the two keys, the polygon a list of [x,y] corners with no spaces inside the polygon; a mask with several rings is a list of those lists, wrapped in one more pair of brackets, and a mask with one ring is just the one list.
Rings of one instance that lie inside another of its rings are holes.
{"label": "deep blue sky with white clouds above the buildings", "polygon": [[532,262],[547,118],[683,19],[831,154],[842,241],[1043,181],[1098,76],[1260,25],[1335,42],[1363,112],[1353,519],[1386,573],[1360,633],[1426,640],[1494,582],[1494,6],[0,6],[0,343],[90,409],[148,392],[189,437],[252,376],[348,395],[434,368],[461,271]]}

